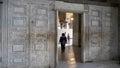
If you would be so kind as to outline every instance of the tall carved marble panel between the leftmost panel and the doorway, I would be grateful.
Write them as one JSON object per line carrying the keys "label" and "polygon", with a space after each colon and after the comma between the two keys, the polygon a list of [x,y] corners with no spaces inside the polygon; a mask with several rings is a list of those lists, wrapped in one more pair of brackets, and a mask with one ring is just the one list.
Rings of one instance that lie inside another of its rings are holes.
{"label": "tall carved marble panel between the leftmost panel and the doorway", "polygon": [[35,26],[31,27],[31,33],[35,33],[35,36],[31,37],[31,66],[44,67],[48,66],[49,62],[47,7],[44,5],[34,5],[32,9],[32,13],[35,15],[33,18],[36,23]]}

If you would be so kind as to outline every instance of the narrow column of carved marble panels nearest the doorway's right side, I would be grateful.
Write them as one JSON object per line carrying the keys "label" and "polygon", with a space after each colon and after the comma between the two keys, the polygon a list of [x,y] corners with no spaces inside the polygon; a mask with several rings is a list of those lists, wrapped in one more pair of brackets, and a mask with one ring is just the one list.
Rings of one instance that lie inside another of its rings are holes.
{"label": "narrow column of carved marble panels nearest the doorway's right side", "polygon": [[[91,47],[97,47],[99,48],[100,42],[101,42],[101,37],[100,37],[100,31],[101,31],[101,20],[100,20],[100,16],[101,16],[101,9],[99,9],[99,6],[92,6],[89,8],[90,12],[90,37],[89,39],[90,41],[90,46]],[[98,49],[99,50],[99,49]],[[92,50],[94,51],[94,50]]]}

